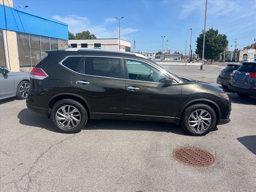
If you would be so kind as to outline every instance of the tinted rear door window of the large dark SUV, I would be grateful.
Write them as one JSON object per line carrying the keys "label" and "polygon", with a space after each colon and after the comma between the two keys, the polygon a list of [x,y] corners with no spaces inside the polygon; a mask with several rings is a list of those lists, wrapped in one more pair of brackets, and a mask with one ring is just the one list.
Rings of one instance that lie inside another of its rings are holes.
{"label": "tinted rear door window of the large dark SUV", "polygon": [[120,78],[120,59],[87,57],[76,71],[86,75]]}

